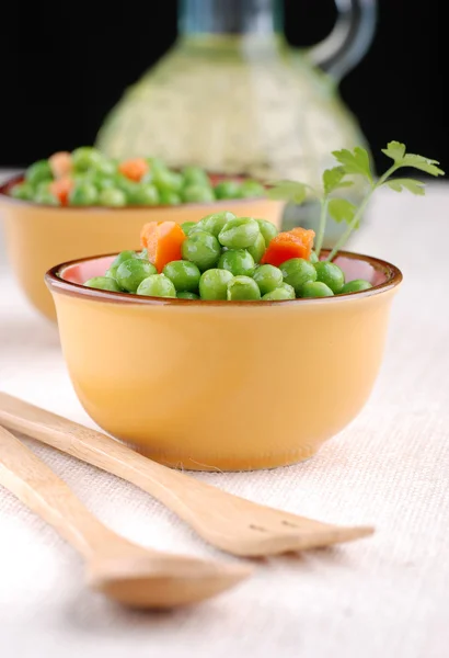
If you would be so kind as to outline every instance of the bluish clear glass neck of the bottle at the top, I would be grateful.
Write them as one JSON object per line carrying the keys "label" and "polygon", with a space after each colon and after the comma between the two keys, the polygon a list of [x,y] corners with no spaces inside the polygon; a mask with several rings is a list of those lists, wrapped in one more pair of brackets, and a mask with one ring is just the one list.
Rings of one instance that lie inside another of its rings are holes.
{"label": "bluish clear glass neck of the bottle at the top", "polygon": [[284,26],[281,0],[181,0],[182,36],[269,36]]}

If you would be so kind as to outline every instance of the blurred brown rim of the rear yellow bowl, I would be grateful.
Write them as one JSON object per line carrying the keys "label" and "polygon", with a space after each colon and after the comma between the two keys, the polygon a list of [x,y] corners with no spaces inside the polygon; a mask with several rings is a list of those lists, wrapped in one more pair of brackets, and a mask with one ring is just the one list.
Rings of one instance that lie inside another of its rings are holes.
{"label": "blurred brown rim of the rear yellow bowl", "polygon": [[[208,175],[216,175],[220,179],[223,180],[228,180],[228,179],[237,179],[237,178],[244,178],[244,179],[251,179],[251,180],[257,180],[253,177],[249,177],[242,173],[235,173],[235,174],[227,174],[227,173],[216,173],[216,172],[208,172],[206,171],[206,173],[208,173]],[[172,209],[175,211],[177,208],[206,208],[206,207],[210,207],[210,206],[217,206],[218,208],[222,208],[222,209],[227,209],[227,205],[229,205],[230,203],[241,203],[242,205],[246,205],[246,204],[251,204],[254,203],[255,201],[263,201],[263,202],[269,202],[269,203],[285,203],[281,200],[277,200],[277,198],[270,198],[269,196],[244,196],[242,198],[216,198],[215,201],[202,201],[202,202],[195,202],[195,203],[180,203],[177,205],[168,205],[168,204],[158,204],[158,205],[125,205],[125,206],[69,206],[69,205],[50,205],[50,204],[46,204],[46,203],[36,203],[34,201],[25,201],[23,198],[14,198],[14,196],[11,196],[10,194],[8,194],[8,190],[10,188],[12,188],[14,184],[20,183],[21,181],[23,181],[24,179],[24,172],[22,173],[16,173],[13,177],[4,180],[1,184],[0,184],[0,198],[2,203],[10,203],[11,205],[18,205],[19,207],[21,206],[27,206],[31,208],[44,208],[45,211],[54,211],[54,212],[69,212],[69,213],[73,213],[73,212],[89,212],[89,213],[95,213],[95,214],[103,214],[103,213],[123,213],[123,212],[150,212],[150,211],[164,211],[164,209]],[[261,184],[264,185],[264,188],[266,189],[266,184],[263,183],[262,181],[257,180],[257,182],[260,182]]]}

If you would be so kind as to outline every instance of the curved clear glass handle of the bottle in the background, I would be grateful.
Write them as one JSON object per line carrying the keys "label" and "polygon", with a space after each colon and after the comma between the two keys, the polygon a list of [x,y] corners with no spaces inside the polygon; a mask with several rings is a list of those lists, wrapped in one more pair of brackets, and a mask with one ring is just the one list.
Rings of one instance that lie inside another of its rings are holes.
{"label": "curved clear glass handle of the bottle in the background", "polygon": [[377,0],[335,0],[338,16],[331,34],[309,57],[337,82],[362,59],[376,33]]}

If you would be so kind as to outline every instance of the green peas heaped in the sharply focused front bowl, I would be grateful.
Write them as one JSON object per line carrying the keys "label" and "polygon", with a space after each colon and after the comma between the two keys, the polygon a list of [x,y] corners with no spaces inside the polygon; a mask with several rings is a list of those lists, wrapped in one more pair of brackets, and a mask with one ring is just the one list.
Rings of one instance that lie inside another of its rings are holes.
{"label": "green peas heaped in the sharply focused front bowl", "polygon": [[143,249],[122,251],[104,276],[85,286],[156,297],[204,300],[275,302],[299,297],[331,297],[371,287],[365,280],[345,283],[335,263],[293,258],[279,268],[261,260],[277,235],[265,219],[215,213],[198,223],[185,223],[182,260],[165,264],[162,272]]}

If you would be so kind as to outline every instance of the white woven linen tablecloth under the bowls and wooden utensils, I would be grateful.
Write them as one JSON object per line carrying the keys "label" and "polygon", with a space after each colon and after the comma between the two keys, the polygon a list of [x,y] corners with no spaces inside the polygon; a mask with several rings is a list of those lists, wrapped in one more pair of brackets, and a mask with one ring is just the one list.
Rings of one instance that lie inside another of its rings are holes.
{"label": "white woven linen tablecloth under the bowls and wooden utensils", "polygon": [[[74,552],[0,488],[1,658],[447,658],[448,247],[448,185],[430,185],[425,198],[380,194],[352,248],[399,265],[404,284],[369,404],[304,464],[195,476],[324,521],[373,523],[373,537],[261,561],[252,579],[215,600],[138,614],[88,591]],[[22,297],[4,254],[0,262],[0,389],[94,427],[71,388],[56,328]],[[130,540],[235,559],[135,487],[28,444]]]}

